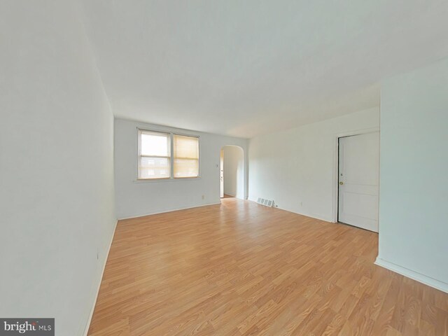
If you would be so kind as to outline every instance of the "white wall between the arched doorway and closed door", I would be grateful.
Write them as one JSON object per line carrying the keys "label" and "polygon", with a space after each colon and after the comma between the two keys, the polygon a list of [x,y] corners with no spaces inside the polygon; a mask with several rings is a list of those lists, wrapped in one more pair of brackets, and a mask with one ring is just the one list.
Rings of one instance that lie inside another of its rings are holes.
{"label": "white wall between the arched doorway and closed door", "polygon": [[375,127],[378,108],[251,139],[249,200],[332,221],[337,134]]}

